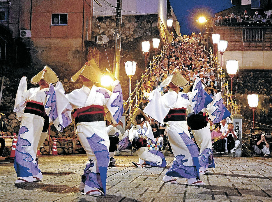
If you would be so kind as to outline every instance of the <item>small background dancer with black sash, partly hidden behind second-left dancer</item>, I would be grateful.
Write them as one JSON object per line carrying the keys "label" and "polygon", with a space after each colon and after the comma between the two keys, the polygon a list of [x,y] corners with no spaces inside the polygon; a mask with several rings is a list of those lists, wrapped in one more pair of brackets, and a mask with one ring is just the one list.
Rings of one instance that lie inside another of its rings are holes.
{"label": "small background dancer with black sash, partly hidden behind second-left dancer", "polygon": [[114,155],[116,153],[118,142],[123,139],[123,135],[120,130],[117,129],[117,125],[121,125],[123,127],[123,123],[119,121],[119,124],[113,124],[110,118],[110,112],[108,111],[106,114],[107,121],[107,133],[109,136],[109,166],[115,166],[116,160],[114,159]]}

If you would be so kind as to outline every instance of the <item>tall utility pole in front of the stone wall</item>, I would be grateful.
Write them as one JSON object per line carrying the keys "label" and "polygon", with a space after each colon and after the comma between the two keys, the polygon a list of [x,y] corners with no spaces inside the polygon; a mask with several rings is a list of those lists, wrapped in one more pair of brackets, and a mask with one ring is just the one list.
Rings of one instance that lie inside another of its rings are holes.
{"label": "tall utility pole in front of the stone wall", "polygon": [[119,79],[120,72],[120,51],[121,51],[121,16],[122,0],[117,0],[116,6],[116,28],[114,29],[114,77]]}

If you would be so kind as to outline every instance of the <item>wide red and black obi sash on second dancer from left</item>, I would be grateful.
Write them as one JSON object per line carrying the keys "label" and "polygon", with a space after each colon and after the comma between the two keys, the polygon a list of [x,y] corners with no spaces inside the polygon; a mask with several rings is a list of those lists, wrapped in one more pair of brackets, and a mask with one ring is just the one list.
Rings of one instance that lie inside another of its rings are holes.
{"label": "wide red and black obi sash on second dancer from left", "polygon": [[74,117],[75,123],[104,121],[105,111],[104,107],[100,105],[90,105],[75,109]]}

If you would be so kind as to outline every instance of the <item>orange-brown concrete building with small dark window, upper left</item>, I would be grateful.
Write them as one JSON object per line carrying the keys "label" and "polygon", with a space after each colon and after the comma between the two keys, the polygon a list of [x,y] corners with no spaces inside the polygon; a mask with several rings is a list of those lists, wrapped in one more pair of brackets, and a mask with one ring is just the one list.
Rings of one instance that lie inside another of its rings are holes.
{"label": "orange-brown concrete building with small dark window, upper left", "polygon": [[92,0],[1,0],[0,24],[26,45],[33,66],[76,72],[85,62],[92,11]]}

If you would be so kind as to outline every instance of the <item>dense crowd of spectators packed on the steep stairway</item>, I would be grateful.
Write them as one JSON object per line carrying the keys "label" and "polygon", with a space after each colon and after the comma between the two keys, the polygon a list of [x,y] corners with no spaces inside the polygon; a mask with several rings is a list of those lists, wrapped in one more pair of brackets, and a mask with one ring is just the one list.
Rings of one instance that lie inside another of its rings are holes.
{"label": "dense crowd of spectators packed on the steep stairway", "polygon": [[[151,80],[142,87],[143,97],[159,87],[175,68],[181,72],[190,84],[199,77],[207,84],[211,96],[218,92],[215,70],[210,66],[210,60],[204,51],[202,44],[203,35],[192,33],[192,35],[181,35],[173,39],[169,49],[163,56],[161,63],[153,69]],[[160,88],[160,87],[159,87]],[[168,88],[160,89],[161,93],[167,93]]]}

